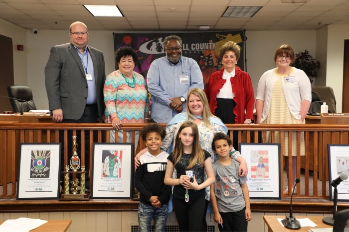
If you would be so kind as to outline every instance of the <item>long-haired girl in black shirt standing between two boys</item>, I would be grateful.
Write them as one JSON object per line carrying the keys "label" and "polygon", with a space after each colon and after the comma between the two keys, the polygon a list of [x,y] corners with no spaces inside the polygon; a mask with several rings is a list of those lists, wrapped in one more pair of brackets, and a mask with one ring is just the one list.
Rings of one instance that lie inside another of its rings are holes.
{"label": "long-haired girl in black shirt standing between two boys", "polygon": [[[181,232],[201,230],[205,213],[205,187],[214,183],[210,154],[201,149],[195,123],[184,122],[169,155],[165,184],[174,185],[174,212]],[[174,168],[177,178],[173,179]],[[204,170],[207,179],[204,180]]]}

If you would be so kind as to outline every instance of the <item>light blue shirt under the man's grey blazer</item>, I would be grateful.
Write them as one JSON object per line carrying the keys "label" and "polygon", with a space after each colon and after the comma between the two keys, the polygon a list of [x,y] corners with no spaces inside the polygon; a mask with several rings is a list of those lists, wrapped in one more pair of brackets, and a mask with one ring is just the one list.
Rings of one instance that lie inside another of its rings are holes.
{"label": "light blue shirt under the man's grey blazer", "polygon": [[79,57],[81,59],[82,66],[84,67],[85,75],[86,75],[86,72],[92,75],[92,80],[87,80],[88,96],[87,96],[86,104],[89,104],[89,105],[95,104],[97,103],[97,90],[96,90],[96,82],[95,82],[95,72],[93,69],[93,62],[92,62],[90,52],[88,51],[87,47],[85,48],[84,54],[81,54],[80,50],[77,47],[75,47],[75,49],[78,52]]}

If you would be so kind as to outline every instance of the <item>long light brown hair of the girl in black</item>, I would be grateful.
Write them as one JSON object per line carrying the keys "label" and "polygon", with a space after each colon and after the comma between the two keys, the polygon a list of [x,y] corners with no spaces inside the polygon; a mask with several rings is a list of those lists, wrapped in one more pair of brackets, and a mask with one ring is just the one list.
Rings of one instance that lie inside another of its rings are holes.
{"label": "long light brown hair of the girl in black", "polygon": [[200,167],[203,166],[205,162],[205,154],[201,148],[200,142],[199,142],[199,131],[197,129],[197,126],[195,123],[191,121],[185,121],[180,127],[177,132],[177,135],[175,137],[174,141],[174,151],[172,152],[173,154],[173,160],[174,160],[174,165],[179,162],[180,158],[183,155],[184,151],[184,146],[182,141],[179,138],[180,132],[184,129],[190,127],[192,130],[193,134],[193,143],[192,143],[192,150],[191,150],[191,157],[189,160],[189,165],[186,167],[187,169],[190,169],[194,167],[196,163],[200,165]]}

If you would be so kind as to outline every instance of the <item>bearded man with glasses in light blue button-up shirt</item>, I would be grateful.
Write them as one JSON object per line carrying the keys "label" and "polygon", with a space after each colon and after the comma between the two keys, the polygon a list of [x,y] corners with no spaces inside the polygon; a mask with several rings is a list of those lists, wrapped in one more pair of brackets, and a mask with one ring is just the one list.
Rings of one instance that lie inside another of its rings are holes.
{"label": "bearded man with glasses in light blue button-up shirt", "polygon": [[153,61],[149,68],[148,91],[152,94],[152,120],[169,123],[174,115],[186,111],[187,92],[203,89],[203,77],[197,62],[182,57],[182,40],[170,35],[164,39],[166,57]]}

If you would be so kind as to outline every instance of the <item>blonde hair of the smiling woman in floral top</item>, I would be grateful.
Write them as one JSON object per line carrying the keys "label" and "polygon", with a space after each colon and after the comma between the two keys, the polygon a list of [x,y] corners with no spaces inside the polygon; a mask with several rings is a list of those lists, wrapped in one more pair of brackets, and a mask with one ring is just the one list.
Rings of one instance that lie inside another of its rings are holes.
{"label": "blonde hair of the smiling woman in floral top", "polygon": [[186,102],[186,114],[188,115],[188,118],[187,120],[189,119],[195,119],[195,115],[193,115],[189,109],[189,101],[190,101],[190,94],[194,94],[196,96],[198,96],[202,102],[202,105],[203,105],[203,111],[202,111],[202,121],[203,123],[205,124],[206,127],[208,128],[212,128],[213,125],[210,121],[210,117],[215,117],[215,118],[218,118],[216,116],[214,116],[210,109],[209,109],[209,105],[208,105],[208,100],[207,100],[207,97],[206,97],[206,94],[205,92],[201,89],[201,88],[192,88],[188,91],[188,95],[186,97],[187,99],[187,102]]}

